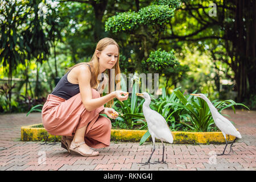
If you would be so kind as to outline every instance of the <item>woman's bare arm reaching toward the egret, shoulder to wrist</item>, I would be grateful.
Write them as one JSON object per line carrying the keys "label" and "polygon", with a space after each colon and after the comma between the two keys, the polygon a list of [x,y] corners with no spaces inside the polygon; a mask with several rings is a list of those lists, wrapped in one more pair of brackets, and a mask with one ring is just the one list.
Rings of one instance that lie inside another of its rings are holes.
{"label": "woman's bare arm reaching toward the egret, shoulder to wrist", "polygon": [[90,87],[90,70],[85,65],[80,67],[77,79],[79,82],[82,104],[84,104],[86,110],[92,111],[97,109],[116,97],[116,92],[112,92],[103,97],[92,98],[92,90]]}

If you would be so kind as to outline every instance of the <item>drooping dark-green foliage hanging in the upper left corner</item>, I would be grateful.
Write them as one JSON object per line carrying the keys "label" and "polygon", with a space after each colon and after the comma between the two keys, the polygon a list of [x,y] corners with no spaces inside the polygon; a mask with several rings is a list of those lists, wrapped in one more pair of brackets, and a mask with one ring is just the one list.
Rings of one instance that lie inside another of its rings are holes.
{"label": "drooping dark-green foliage hanging in the upper left corner", "polygon": [[[56,32],[59,23],[56,21],[55,9],[47,6],[49,11],[43,17],[40,15],[40,3],[44,1],[1,1],[0,9],[0,62],[3,70],[8,73],[9,90],[13,86],[13,74],[19,65],[26,68],[28,82],[27,67],[32,60],[36,60],[36,96],[39,96],[40,90],[39,63],[47,60],[51,48],[49,43],[60,35],[60,31]],[[9,92],[9,109],[11,97],[12,92]]]}

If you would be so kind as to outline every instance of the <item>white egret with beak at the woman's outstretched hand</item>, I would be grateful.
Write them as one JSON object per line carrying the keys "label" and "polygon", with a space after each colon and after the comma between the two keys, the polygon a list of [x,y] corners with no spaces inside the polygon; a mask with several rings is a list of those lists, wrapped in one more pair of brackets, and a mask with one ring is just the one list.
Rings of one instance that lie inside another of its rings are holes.
{"label": "white egret with beak at the woman's outstretched hand", "polygon": [[141,96],[144,98],[145,102],[143,103],[142,110],[144,117],[147,121],[147,128],[148,132],[151,134],[152,142],[153,142],[153,150],[151,152],[150,158],[147,160],[144,165],[150,163],[151,156],[153,155],[155,151],[155,138],[158,138],[161,140],[163,144],[163,159],[159,163],[166,163],[164,162],[164,143],[163,141],[172,143],[174,142],[174,138],[172,137],[172,133],[170,131],[170,128],[167,125],[166,119],[156,112],[155,110],[150,109],[150,95],[146,92],[143,93],[136,93],[136,96]]}

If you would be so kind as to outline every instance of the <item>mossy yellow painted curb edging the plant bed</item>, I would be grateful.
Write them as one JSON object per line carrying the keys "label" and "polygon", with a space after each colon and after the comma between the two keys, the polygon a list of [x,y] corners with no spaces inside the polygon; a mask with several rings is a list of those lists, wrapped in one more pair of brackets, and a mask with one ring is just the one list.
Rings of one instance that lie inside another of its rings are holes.
{"label": "mossy yellow painted curb edging the plant bed", "polygon": [[[44,128],[33,127],[42,125],[38,123],[30,126],[21,127],[21,140],[22,141],[42,141],[46,140],[48,132]],[[111,130],[111,140],[139,142],[147,130]],[[174,143],[179,144],[209,144],[209,143],[225,143],[225,138],[221,132],[185,132],[185,131],[172,131]],[[227,135],[228,141],[233,141],[236,137]],[[54,135],[49,134],[48,140],[53,140]],[[61,136],[56,135],[56,141],[60,142]],[[150,141],[151,137],[147,139]],[[156,140],[160,141],[160,140]]]}

